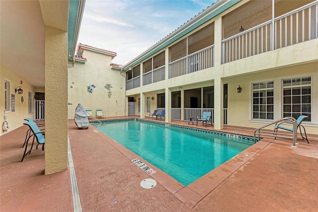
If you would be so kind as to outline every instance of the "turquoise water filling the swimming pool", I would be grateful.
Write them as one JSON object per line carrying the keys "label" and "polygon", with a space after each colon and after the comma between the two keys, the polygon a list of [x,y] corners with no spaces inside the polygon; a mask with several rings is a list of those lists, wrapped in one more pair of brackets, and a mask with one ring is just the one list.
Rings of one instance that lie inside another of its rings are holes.
{"label": "turquoise water filling the swimming pool", "polygon": [[251,142],[142,120],[106,123],[96,128],[184,186],[251,145]]}

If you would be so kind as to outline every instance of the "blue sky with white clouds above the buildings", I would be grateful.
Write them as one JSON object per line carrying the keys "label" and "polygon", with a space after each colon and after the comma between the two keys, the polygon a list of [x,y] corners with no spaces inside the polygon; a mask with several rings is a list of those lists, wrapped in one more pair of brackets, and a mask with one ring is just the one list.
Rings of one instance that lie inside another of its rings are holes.
{"label": "blue sky with white clouds above the buildings", "polygon": [[78,43],[126,65],[215,0],[86,0]]}

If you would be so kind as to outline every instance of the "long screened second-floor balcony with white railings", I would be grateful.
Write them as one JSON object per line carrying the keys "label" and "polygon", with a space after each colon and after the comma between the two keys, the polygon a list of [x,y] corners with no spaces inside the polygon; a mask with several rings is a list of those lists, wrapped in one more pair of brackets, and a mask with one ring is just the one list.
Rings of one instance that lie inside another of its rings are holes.
{"label": "long screened second-floor balcony with white railings", "polygon": [[[158,55],[134,67],[135,72],[127,75],[126,89],[215,67],[215,56],[221,58],[221,64],[226,64],[317,39],[318,0],[306,5],[302,1],[299,3],[301,5],[298,7],[293,4],[291,8],[287,8],[288,2],[278,1],[277,14],[275,13],[273,18],[270,1],[249,1],[246,5],[243,4],[220,17],[223,31],[215,31],[216,20],[211,20],[205,27],[183,37],[172,46],[162,49]],[[252,8],[258,10],[247,14],[246,11]],[[261,19],[255,19],[256,17]],[[238,28],[237,24],[242,23],[246,24],[246,30],[242,26],[242,30]],[[218,38],[225,38],[215,40],[215,33],[219,34]],[[215,49],[216,47],[218,49]],[[168,57],[167,60],[165,57]]]}

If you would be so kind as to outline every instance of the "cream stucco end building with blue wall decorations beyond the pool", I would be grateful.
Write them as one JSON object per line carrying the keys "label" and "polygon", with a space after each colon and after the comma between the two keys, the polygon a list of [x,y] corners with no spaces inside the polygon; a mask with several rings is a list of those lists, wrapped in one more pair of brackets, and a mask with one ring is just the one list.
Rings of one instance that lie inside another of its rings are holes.
{"label": "cream stucco end building with blue wall decorations beyond the pool", "polygon": [[79,44],[75,64],[69,66],[68,97],[69,119],[74,118],[75,108],[80,103],[96,116],[102,109],[107,117],[124,116],[125,74],[121,66],[111,61],[115,52]]}

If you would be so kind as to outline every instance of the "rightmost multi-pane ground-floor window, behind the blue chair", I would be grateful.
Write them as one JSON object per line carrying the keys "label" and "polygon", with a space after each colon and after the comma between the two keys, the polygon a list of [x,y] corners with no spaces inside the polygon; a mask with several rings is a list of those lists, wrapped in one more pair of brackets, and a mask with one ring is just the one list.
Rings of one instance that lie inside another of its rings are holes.
{"label": "rightmost multi-pane ground-floor window, behind the blue chair", "polygon": [[283,79],[283,117],[308,116],[311,121],[312,79],[311,76]]}

